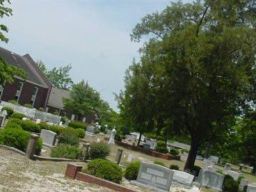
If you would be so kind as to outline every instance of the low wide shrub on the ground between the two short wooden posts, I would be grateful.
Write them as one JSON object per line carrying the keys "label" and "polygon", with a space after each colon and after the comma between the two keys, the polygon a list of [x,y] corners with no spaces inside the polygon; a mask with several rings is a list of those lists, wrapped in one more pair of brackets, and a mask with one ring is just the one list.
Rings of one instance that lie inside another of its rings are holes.
{"label": "low wide shrub on the ground between the two short wooden posts", "polygon": [[81,156],[81,148],[72,145],[61,144],[51,150],[51,157],[79,159]]}

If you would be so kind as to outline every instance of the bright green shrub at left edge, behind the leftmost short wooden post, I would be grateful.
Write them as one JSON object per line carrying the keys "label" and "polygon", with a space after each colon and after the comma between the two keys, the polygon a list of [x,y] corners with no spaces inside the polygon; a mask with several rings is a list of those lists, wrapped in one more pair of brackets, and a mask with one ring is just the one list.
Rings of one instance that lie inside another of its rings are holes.
{"label": "bright green shrub at left edge, behind the leftmost short wooden post", "polygon": [[[4,129],[0,131],[0,144],[17,148],[26,152],[30,133],[22,129]],[[36,155],[39,155],[42,149],[42,139],[39,138],[36,144]]]}

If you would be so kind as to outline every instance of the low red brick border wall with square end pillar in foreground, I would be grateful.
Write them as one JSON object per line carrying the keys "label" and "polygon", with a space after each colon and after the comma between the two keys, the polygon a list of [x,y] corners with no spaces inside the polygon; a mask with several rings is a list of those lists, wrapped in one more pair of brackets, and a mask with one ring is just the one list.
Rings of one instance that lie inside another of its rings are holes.
{"label": "low red brick border wall with square end pillar in foreground", "polygon": [[136,192],[131,189],[120,186],[119,184],[115,184],[114,182],[110,182],[108,180],[100,179],[98,177],[94,177],[92,175],[88,175],[86,173],[81,172],[82,166],[76,166],[74,164],[67,165],[67,170],[65,172],[65,176],[71,179],[77,179],[84,182],[98,184],[99,186],[103,186],[109,189],[113,189],[115,191],[120,192]]}

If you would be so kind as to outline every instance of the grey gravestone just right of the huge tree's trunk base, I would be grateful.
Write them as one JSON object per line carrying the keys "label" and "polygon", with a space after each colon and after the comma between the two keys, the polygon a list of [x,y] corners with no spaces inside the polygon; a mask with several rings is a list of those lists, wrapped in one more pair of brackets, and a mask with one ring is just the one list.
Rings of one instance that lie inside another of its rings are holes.
{"label": "grey gravestone just right of the huge tree's trunk base", "polygon": [[223,180],[224,175],[209,170],[200,170],[197,181],[204,187],[221,191]]}

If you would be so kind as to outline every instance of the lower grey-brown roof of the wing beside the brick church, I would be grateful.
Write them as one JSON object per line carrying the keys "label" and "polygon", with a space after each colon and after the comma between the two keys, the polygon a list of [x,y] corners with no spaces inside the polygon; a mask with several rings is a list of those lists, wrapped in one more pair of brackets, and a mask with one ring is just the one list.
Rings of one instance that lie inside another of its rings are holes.
{"label": "lower grey-brown roof of the wing beside the brick church", "polygon": [[52,87],[47,106],[57,109],[64,109],[62,99],[70,99],[70,91]]}

